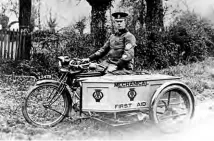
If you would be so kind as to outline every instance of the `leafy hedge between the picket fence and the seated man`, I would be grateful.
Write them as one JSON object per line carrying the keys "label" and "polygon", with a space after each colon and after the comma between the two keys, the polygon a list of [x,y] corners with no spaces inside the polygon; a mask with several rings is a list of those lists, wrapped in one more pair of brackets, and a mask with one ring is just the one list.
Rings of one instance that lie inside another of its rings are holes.
{"label": "leafy hedge between the picket fence and the seated man", "polygon": [[[4,61],[2,72],[19,75],[44,75],[58,72],[57,57],[61,55],[71,58],[86,58],[95,51],[92,36],[81,36],[66,29],[62,33],[37,31],[33,34],[33,49],[30,60]],[[8,71],[8,67],[12,68]]]}

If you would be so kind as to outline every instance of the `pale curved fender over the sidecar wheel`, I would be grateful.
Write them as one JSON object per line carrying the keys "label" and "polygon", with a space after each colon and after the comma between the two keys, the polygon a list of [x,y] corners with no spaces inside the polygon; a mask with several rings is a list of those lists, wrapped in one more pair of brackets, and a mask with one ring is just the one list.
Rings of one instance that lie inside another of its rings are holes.
{"label": "pale curved fender over the sidecar wheel", "polygon": [[154,103],[158,97],[158,95],[168,86],[172,86],[172,85],[179,85],[181,87],[183,87],[184,89],[186,89],[188,91],[188,93],[190,94],[191,96],[191,99],[192,99],[192,103],[193,103],[193,108],[195,107],[195,97],[194,97],[194,94],[193,92],[191,91],[191,89],[186,85],[184,84],[183,82],[180,82],[180,81],[169,81],[169,82],[166,82],[164,84],[162,84],[156,91],[155,93],[153,94],[152,98],[151,98],[151,101],[150,101],[150,108],[153,108],[154,106]]}

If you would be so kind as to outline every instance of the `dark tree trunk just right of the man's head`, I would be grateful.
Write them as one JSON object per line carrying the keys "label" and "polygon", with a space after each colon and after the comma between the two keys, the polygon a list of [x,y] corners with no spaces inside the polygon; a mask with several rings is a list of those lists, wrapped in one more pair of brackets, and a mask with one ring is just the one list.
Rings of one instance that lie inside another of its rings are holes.
{"label": "dark tree trunk just right of the man's head", "polygon": [[146,0],[146,28],[148,31],[162,31],[163,24],[163,0]]}

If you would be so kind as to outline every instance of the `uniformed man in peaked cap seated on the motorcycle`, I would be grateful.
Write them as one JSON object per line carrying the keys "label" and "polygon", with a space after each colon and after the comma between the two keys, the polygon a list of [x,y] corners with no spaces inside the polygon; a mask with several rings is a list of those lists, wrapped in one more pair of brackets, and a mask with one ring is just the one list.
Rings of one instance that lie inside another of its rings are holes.
{"label": "uniformed man in peaked cap seated on the motorcycle", "polygon": [[98,60],[107,55],[101,64],[107,66],[107,72],[113,74],[127,74],[133,70],[135,36],[126,29],[127,13],[115,12],[114,26],[116,32],[112,34],[102,48],[86,58],[85,61]]}

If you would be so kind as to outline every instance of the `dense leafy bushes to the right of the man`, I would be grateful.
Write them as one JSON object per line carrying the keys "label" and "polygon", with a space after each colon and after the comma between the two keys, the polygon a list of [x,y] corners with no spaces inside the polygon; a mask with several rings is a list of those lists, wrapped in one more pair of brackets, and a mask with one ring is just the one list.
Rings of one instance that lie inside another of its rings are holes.
{"label": "dense leafy bushes to the right of the man", "polygon": [[137,69],[161,69],[202,61],[213,52],[214,29],[194,12],[182,12],[165,31],[136,32],[139,33],[136,34]]}

